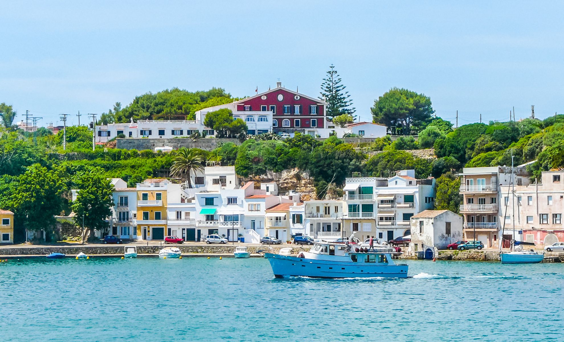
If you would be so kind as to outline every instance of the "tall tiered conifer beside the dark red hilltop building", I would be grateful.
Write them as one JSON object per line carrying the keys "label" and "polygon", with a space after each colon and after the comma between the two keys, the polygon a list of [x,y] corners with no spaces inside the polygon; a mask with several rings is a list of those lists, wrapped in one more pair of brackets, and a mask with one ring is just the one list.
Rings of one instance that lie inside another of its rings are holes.
{"label": "tall tiered conifer beside the dark red hilltop building", "polygon": [[341,84],[341,77],[331,64],[327,72],[327,78],[323,78],[321,84],[321,99],[328,103],[327,116],[336,117],[343,114],[354,114],[356,108],[351,108],[352,100],[346,86]]}

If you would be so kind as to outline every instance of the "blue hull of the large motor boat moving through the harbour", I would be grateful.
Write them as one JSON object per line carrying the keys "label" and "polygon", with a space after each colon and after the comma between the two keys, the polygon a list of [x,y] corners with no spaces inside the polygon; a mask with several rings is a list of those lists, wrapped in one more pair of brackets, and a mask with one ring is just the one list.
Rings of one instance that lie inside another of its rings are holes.
{"label": "blue hull of the large motor boat moving through the harbour", "polygon": [[407,278],[407,265],[356,265],[353,262],[316,260],[265,253],[276,278]]}

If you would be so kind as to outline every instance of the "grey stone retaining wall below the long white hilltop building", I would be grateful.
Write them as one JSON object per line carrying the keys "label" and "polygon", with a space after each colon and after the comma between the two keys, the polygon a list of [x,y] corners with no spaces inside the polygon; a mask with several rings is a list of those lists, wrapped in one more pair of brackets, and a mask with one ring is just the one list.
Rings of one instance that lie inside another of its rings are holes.
{"label": "grey stone retaining wall below the long white hilltop building", "polygon": [[175,150],[180,147],[195,147],[201,150],[211,151],[219,142],[232,142],[237,145],[241,144],[239,139],[232,138],[199,138],[192,141],[191,138],[171,138],[171,139],[150,139],[150,138],[123,138],[116,139],[117,148],[125,148],[126,150],[155,150],[155,147],[170,146]]}

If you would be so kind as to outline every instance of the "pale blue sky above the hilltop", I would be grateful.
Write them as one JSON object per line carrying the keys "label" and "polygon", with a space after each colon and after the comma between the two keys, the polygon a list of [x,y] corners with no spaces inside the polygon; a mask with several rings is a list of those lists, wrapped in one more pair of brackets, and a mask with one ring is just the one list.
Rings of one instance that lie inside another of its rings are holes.
{"label": "pale blue sky above the hilltop", "polygon": [[[179,87],[318,97],[334,64],[360,120],[391,87],[459,125],[564,113],[563,2],[2,1],[0,102],[39,125]],[[85,120],[82,116],[81,120]],[[85,122],[85,121],[82,121]]]}

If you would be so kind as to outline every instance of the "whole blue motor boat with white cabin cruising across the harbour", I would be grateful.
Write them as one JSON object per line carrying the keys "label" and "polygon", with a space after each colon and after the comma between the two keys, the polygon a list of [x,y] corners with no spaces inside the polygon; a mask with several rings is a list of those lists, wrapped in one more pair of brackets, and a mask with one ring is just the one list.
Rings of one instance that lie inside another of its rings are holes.
{"label": "whole blue motor boat with white cabin cruising across the harbour", "polygon": [[408,266],[392,253],[348,243],[315,242],[297,256],[265,253],[276,278],[407,278]]}

